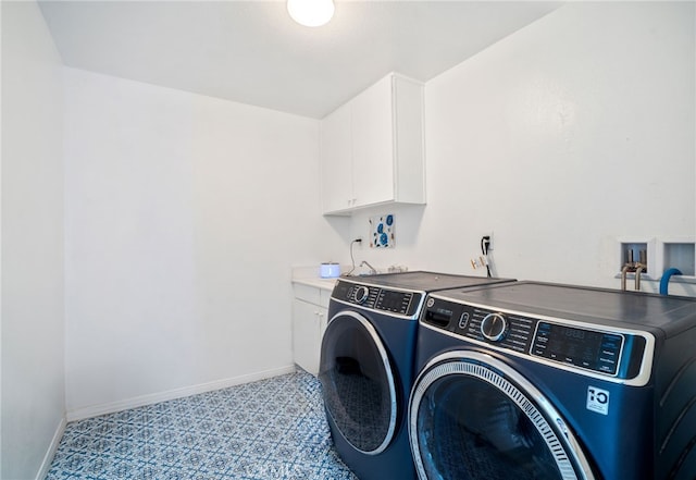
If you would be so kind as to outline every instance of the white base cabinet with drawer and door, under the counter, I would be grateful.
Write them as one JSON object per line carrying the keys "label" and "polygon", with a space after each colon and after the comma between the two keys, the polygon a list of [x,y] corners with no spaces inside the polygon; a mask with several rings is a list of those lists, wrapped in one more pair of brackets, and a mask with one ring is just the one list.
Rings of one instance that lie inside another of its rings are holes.
{"label": "white base cabinet with drawer and door, under the counter", "polygon": [[293,358],[303,370],[316,376],[331,291],[295,284],[294,292]]}

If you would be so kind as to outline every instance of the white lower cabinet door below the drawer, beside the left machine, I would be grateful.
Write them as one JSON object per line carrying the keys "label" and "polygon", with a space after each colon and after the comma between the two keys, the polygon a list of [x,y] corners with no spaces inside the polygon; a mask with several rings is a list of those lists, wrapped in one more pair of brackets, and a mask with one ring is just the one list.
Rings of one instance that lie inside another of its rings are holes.
{"label": "white lower cabinet door below the drawer, beside the left machine", "polygon": [[319,373],[322,324],[326,313],[326,309],[318,305],[293,300],[293,358],[313,376]]}

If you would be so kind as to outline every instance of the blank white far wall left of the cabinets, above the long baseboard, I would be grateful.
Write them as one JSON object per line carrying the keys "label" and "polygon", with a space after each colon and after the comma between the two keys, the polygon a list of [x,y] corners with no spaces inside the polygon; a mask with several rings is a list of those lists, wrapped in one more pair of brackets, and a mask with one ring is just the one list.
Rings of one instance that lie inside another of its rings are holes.
{"label": "blank white far wall left of the cabinets, above the long baseboard", "polygon": [[290,368],[291,262],[339,242],[318,122],[73,69],[65,87],[69,418]]}

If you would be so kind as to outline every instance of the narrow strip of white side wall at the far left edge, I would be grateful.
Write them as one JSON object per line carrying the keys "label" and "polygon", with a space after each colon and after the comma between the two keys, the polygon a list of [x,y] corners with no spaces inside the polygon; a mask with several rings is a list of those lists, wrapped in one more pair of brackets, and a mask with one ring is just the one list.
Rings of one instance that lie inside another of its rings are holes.
{"label": "narrow strip of white side wall at the far left edge", "polygon": [[2,2],[5,480],[42,478],[64,426],[61,75],[38,7]]}

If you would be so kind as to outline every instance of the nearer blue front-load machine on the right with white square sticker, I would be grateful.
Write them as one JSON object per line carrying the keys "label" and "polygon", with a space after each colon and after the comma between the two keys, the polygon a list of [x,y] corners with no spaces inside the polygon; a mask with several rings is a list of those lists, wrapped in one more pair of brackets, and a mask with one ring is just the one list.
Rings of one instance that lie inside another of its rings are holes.
{"label": "nearer blue front-load machine on the right with white square sticker", "polygon": [[421,479],[694,480],[696,299],[518,282],[428,295]]}

